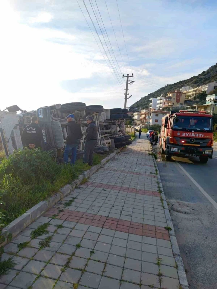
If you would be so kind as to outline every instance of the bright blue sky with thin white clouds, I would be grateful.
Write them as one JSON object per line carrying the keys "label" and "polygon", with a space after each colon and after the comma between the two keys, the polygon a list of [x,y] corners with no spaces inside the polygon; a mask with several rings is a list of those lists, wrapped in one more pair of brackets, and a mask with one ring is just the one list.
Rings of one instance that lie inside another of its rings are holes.
{"label": "bright blue sky with thin white clouds", "polygon": [[133,73],[130,106],[216,64],[216,13],[215,0],[1,1],[0,109],[123,107]]}

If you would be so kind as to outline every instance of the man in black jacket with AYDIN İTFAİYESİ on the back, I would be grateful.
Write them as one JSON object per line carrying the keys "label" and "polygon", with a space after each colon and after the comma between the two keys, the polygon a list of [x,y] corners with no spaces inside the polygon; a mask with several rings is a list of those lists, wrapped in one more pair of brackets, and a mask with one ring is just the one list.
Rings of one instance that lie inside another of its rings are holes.
{"label": "man in black jacket with AYDIN \u0130TFA\u0130YES\u0130 on the back", "polygon": [[24,128],[22,132],[23,146],[29,148],[42,147],[43,134],[38,121],[37,116],[32,116],[31,123]]}

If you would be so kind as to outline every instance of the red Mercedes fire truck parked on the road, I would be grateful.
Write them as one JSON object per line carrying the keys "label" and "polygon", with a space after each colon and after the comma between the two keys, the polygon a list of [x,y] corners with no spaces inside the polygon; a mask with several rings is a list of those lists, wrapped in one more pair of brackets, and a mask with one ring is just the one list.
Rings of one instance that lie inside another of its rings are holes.
{"label": "red Mercedes fire truck parked on the road", "polygon": [[199,156],[205,164],[213,155],[212,115],[205,111],[170,111],[162,118],[160,147],[166,160],[172,156]]}

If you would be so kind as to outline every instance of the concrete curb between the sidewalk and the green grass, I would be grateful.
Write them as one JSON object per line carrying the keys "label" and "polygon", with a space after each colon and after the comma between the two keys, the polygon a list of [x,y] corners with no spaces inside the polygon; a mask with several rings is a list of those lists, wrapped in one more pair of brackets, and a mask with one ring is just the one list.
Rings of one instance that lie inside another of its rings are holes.
{"label": "concrete curb between the sidewalk and the green grass", "polygon": [[[111,153],[105,159],[103,159],[100,164],[91,167],[91,169],[83,172],[76,180],[73,180],[71,184],[65,185],[64,187],[60,188],[57,193],[54,193],[49,199],[45,201],[41,201],[31,209],[26,211],[26,213],[22,214],[15,220],[13,220],[7,227],[2,230],[4,236],[12,236],[14,238],[17,236],[22,230],[24,230],[28,225],[30,225],[33,221],[35,221],[39,216],[45,213],[48,209],[53,207],[59,200],[63,199],[65,196],[68,196],[80,183],[89,176],[93,175],[97,170],[100,169],[106,162],[108,162],[113,156],[119,153],[123,148],[117,149],[114,153]],[[4,246],[9,242],[7,238],[4,242],[0,244],[0,246]]]}

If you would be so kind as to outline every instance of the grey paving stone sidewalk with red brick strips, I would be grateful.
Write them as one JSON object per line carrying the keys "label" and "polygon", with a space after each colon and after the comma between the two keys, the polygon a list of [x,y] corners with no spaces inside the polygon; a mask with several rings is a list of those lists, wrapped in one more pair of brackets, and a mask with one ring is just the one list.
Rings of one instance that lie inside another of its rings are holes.
{"label": "grey paving stone sidewalk with red brick strips", "polygon": [[7,244],[17,265],[0,289],[181,288],[150,150],[135,140]]}

